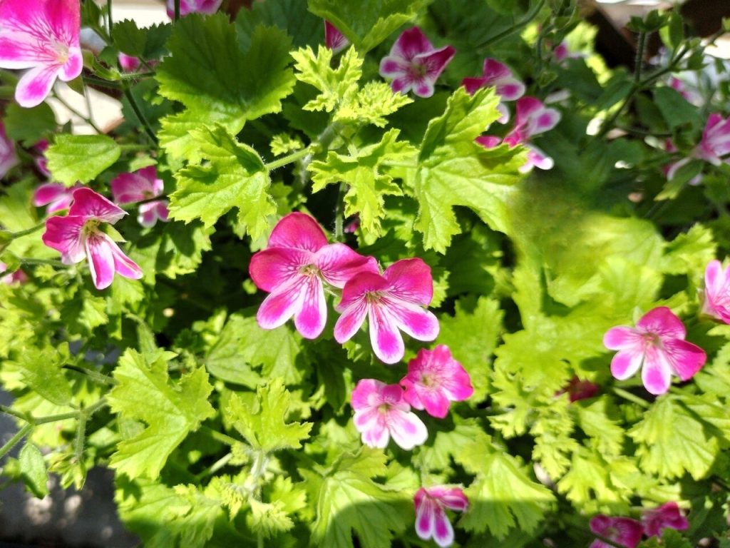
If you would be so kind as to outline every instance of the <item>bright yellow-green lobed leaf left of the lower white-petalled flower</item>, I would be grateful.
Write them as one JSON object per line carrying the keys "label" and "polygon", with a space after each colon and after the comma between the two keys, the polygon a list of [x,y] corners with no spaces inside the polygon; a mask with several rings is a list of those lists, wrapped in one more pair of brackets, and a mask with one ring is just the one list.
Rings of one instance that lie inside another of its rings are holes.
{"label": "bright yellow-green lobed leaf left of the lower white-petalled flower", "polygon": [[256,389],[253,405],[246,405],[233,395],[225,413],[234,427],[255,449],[266,453],[281,449],[299,449],[301,441],[309,438],[311,422],[286,422],[291,393],[280,378]]}

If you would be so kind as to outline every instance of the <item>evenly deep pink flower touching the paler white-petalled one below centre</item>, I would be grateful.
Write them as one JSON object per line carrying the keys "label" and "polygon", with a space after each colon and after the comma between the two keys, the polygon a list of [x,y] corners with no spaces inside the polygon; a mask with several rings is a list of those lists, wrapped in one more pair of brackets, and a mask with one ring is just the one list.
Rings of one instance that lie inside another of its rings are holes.
{"label": "evenly deep pink flower touching the paler white-petalled one below centre", "polygon": [[420,349],[408,362],[408,374],[401,378],[404,398],[415,409],[443,419],[450,402],[463,401],[474,393],[469,373],[439,344],[433,350]]}

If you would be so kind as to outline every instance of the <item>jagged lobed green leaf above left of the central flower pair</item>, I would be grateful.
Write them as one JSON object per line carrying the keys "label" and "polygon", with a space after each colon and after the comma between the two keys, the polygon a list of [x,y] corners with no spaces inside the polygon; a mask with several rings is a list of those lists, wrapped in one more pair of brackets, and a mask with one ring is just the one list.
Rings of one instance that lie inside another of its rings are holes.
{"label": "jagged lobed green leaf above left of the central flower pair", "polygon": [[191,130],[190,140],[207,163],[175,174],[170,216],[186,223],[199,218],[205,227],[212,227],[228,210],[238,208],[238,221],[246,232],[253,238],[264,235],[269,229],[266,217],[276,213],[276,205],[261,156],[223,126]]}

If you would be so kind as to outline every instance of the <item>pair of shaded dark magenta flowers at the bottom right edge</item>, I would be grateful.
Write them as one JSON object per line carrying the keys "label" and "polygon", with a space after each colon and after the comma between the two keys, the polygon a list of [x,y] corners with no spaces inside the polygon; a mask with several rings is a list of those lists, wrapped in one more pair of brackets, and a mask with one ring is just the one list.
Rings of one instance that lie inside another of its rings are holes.
{"label": "pair of shaded dark magenta flowers at the bottom right edge", "polygon": [[591,531],[603,539],[596,539],[589,548],[611,548],[616,544],[636,548],[644,535],[661,539],[664,529],[685,530],[689,527],[687,518],[675,502],[668,502],[655,509],[646,510],[641,521],[630,517],[609,517],[598,514],[591,519]]}

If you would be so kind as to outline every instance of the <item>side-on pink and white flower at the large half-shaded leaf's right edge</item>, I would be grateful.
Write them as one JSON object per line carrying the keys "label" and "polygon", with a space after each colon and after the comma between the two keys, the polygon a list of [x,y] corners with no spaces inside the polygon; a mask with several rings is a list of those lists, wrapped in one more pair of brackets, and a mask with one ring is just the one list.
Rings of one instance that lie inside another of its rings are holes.
{"label": "side-on pink and white flower at the large half-shaded leaf's right edge", "polygon": [[541,170],[552,169],[555,162],[547,154],[533,145],[530,140],[535,135],[553,129],[560,121],[561,115],[554,108],[545,107],[542,101],[535,97],[521,97],[517,102],[517,117],[515,126],[504,139],[491,135],[477,137],[476,142],[484,148],[494,148],[504,142],[513,148],[517,145],[524,145],[527,151],[527,161],[520,167],[520,172],[529,172],[533,167]]}

